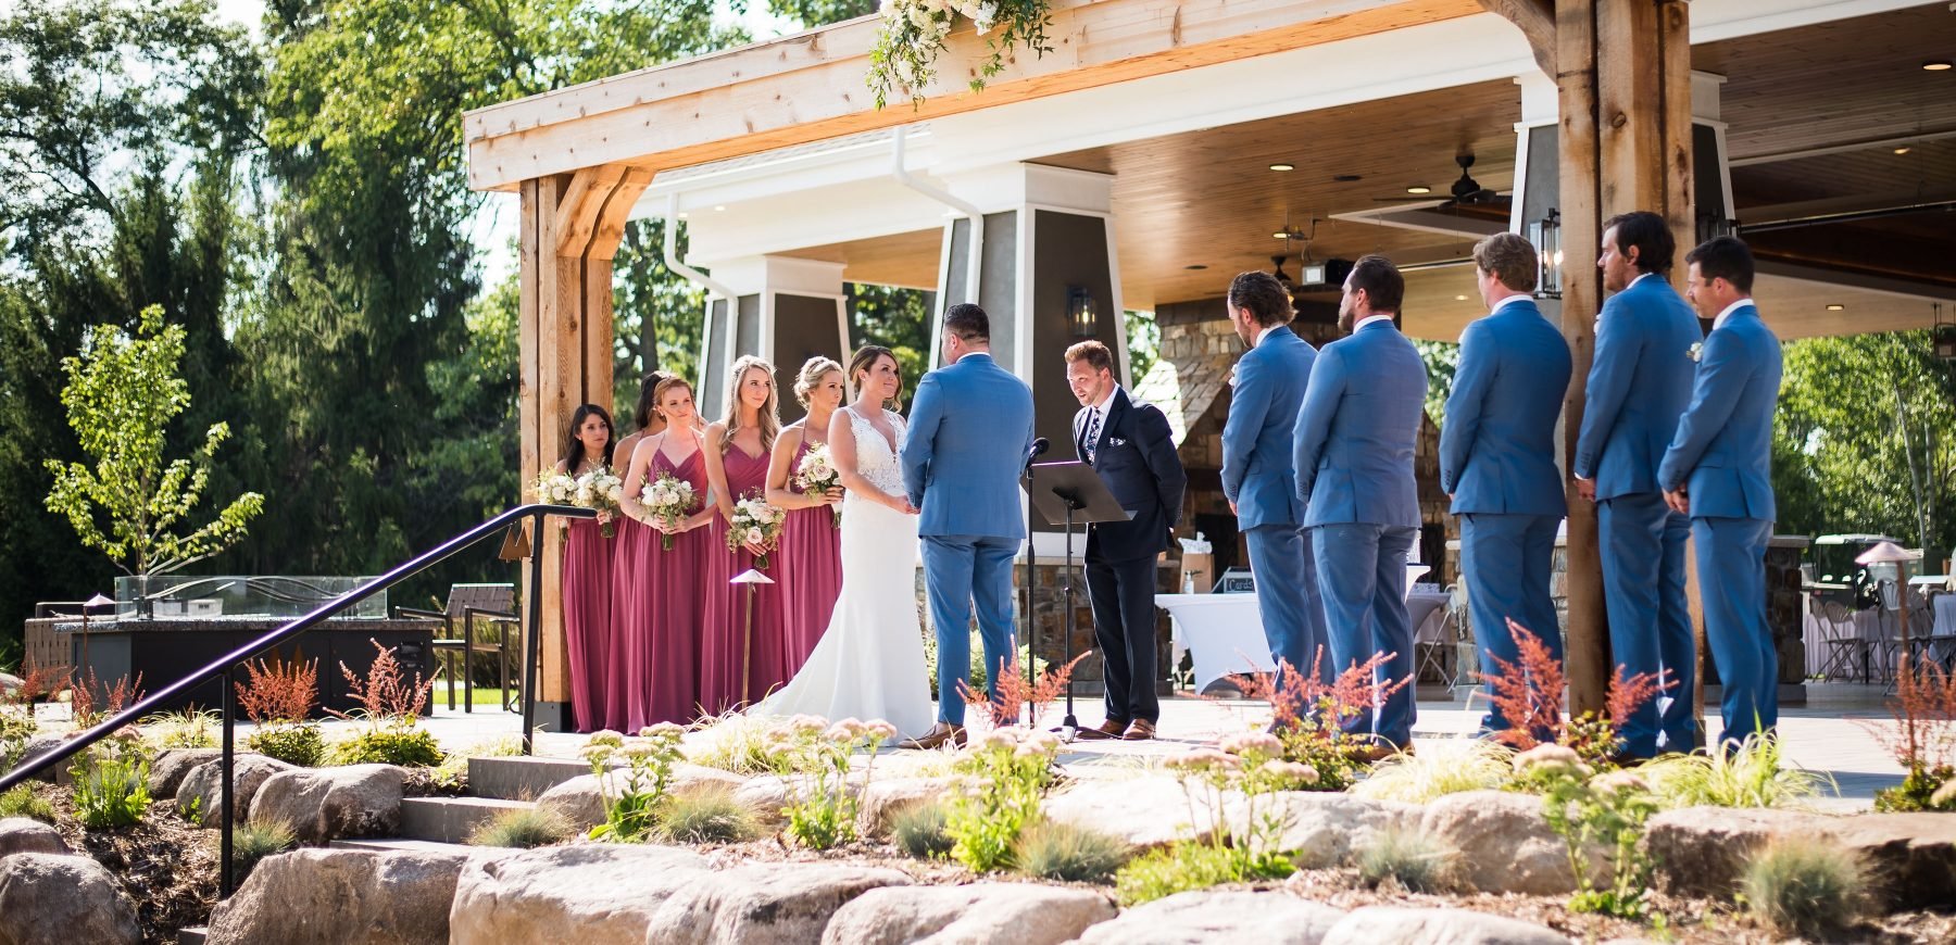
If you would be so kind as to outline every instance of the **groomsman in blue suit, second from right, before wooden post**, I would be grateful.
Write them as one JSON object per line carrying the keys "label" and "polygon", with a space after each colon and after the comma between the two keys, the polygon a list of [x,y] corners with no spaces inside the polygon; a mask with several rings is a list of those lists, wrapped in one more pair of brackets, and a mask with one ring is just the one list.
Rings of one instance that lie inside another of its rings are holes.
{"label": "groomsman in blue suit, second from right, before wooden post", "polygon": [[1596,319],[1596,360],[1571,470],[1577,493],[1596,503],[1612,659],[1627,673],[1668,671],[1672,683],[1668,706],[1653,698],[1623,722],[1625,759],[1655,757],[1659,736],[1667,751],[1698,743],[1698,644],[1684,603],[1690,522],[1665,505],[1657,485],[1657,464],[1692,395],[1684,352],[1704,337],[1665,280],[1674,254],[1670,227],[1657,213],[1604,221],[1596,266],[1614,295]]}

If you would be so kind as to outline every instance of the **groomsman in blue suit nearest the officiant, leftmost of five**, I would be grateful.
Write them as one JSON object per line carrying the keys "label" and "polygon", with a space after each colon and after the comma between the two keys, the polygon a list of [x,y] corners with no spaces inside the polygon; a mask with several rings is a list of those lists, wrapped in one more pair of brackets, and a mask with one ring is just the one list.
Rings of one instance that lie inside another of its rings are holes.
{"label": "groomsman in blue suit nearest the officiant, leftmost of five", "polygon": [[1228,321],[1250,350],[1236,360],[1222,425],[1222,495],[1250,544],[1271,663],[1289,663],[1297,673],[1318,665],[1318,675],[1330,679],[1324,605],[1289,456],[1318,350],[1291,331],[1293,317],[1291,292],[1275,276],[1244,272],[1230,282]]}

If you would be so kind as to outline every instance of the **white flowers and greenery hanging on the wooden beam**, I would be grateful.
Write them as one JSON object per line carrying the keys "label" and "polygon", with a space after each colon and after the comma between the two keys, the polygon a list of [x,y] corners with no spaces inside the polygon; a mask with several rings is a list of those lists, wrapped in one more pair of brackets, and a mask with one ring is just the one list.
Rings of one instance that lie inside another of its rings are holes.
{"label": "white flowers and greenery hanging on the wooden beam", "polygon": [[882,108],[892,92],[908,94],[911,108],[923,104],[917,90],[937,78],[937,57],[943,55],[945,37],[960,18],[970,20],[992,49],[992,57],[970,80],[972,92],[982,90],[986,78],[1005,70],[1005,57],[1013,47],[1023,45],[1037,55],[1052,51],[1046,41],[1052,0],[882,0],[878,14],[882,31],[868,55],[870,67],[865,76],[868,88],[876,92],[876,108]]}

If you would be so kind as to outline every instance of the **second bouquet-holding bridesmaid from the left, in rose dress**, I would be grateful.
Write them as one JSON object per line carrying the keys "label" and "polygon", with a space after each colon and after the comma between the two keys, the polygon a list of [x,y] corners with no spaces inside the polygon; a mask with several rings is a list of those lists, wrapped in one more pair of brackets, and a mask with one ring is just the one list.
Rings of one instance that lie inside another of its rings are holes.
{"label": "second bouquet-holding bridesmaid from the left, in rose dress", "polygon": [[[620,646],[608,673],[616,693],[606,693],[606,728],[622,732],[653,722],[690,722],[698,714],[700,579],[712,552],[714,507],[704,505],[706,460],[692,387],[665,376],[653,385],[653,405],[665,428],[632,450],[620,503],[628,517],[645,524],[616,567],[612,622]],[[657,518],[642,501],[645,483],[663,473],[690,483],[702,503],[681,520]],[[673,538],[669,550],[661,536]]]}

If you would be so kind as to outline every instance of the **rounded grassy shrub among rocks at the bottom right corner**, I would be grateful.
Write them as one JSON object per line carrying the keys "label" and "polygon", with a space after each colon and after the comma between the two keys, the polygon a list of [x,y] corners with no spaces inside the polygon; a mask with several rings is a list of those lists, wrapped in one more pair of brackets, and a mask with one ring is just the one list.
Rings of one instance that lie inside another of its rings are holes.
{"label": "rounded grassy shrub among rocks at the bottom right corner", "polygon": [[1753,855],[1739,878],[1745,906],[1782,935],[1823,939],[1868,904],[1868,873],[1848,851],[1811,837],[1784,837]]}

